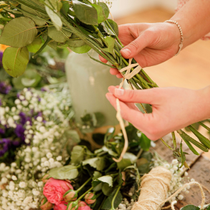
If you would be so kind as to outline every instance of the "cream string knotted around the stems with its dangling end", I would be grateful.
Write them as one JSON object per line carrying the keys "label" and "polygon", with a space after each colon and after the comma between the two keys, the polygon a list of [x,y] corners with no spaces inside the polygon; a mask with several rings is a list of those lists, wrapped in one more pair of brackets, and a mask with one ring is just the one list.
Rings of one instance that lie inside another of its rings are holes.
{"label": "cream string knotted around the stems with its dangling end", "polygon": [[[141,66],[138,63],[131,64],[132,63],[132,59],[133,58],[129,59],[128,66],[126,66],[125,68],[122,68],[121,70],[119,70],[119,72],[121,72],[121,73],[126,71],[125,74],[123,75],[123,80],[120,83],[120,86],[119,86],[120,89],[122,88],[125,79],[131,79],[133,76],[138,74],[141,71],[141,69],[142,69]],[[113,160],[115,162],[120,162],[123,159],[123,156],[126,153],[127,148],[128,148],[128,136],[127,136],[127,133],[126,133],[126,130],[125,130],[125,124],[123,122],[123,119],[122,119],[122,116],[121,116],[121,113],[120,113],[120,101],[119,101],[118,98],[116,99],[116,105],[117,105],[116,118],[117,118],[117,120],[120,123],[120,127],[121,127],[121,130],[122,130],[125,142],[124,142],[124,147],[123,147],[123,150],[121,152],[121,155],[120,155],[119,159],[113,158]]]}

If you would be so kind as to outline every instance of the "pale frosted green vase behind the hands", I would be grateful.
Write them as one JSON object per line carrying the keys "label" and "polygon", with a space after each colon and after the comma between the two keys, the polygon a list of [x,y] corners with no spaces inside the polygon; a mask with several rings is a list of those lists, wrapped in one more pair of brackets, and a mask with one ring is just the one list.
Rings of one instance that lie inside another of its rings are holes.
{"label": "pale frosted green vase behind the hands", "polygon": [[[98,59],[95,52],[90,55]],[[100,112],[105,116],[103,126],[118,124],[116,111],[105,94],[110,85],[119,85],[121,80],[109,73],[109,67],[93,61],[87,54],[71,52],[65,69],[76,122],[80,123],[85,113]]]}

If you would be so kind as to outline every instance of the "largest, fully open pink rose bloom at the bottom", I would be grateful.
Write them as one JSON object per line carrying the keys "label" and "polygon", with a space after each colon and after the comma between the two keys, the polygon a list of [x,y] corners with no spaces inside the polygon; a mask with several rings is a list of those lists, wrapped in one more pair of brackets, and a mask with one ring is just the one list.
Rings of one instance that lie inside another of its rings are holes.
{"label": "largest, fully open pink rose bloom at the bottom", "polygon": [[73,187],[68,181],[50,178],[44,186],[43,194],[50,203],[58,205],[63,200],[65,192],[70,189]]}

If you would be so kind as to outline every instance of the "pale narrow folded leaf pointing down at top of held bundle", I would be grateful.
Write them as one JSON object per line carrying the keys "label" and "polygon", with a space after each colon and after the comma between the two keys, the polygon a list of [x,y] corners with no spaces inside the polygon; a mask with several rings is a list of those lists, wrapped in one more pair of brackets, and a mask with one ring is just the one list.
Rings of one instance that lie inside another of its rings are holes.
{"label": "pale narrow folded leaf pointing down at top of held bundle", "polygon": [[53,25],[56,27],[56,29],[58,31],[60,31],[62,29],[62,25],[63,25],[60,17],[58,16],[58,14],[55,11],[51,10],[51,5],[50,5],[49,1],[45,0],[45,2],[47,4],[47,5],[45,5],[45,10],[46,10],[47,14],[49,15],[49,17],[50,17]]}

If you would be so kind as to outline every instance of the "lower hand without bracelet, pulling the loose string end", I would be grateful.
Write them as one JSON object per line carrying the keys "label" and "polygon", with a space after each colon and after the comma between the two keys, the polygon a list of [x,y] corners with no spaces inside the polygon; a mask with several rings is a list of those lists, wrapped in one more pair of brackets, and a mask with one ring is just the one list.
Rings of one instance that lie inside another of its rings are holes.
{"label": "lower hand without bracelet, pulling the loose string end", "polygon": [[[152,88],[124,90],[109,87],[106,97],[116,109],[120,100],[122,117],[151,140],[210,117],[210,87],[201,90],[185,88]],[[208,98],[208,99],[207,99]],[[152,113],[143,114],[135,103],[152,106]]]}

